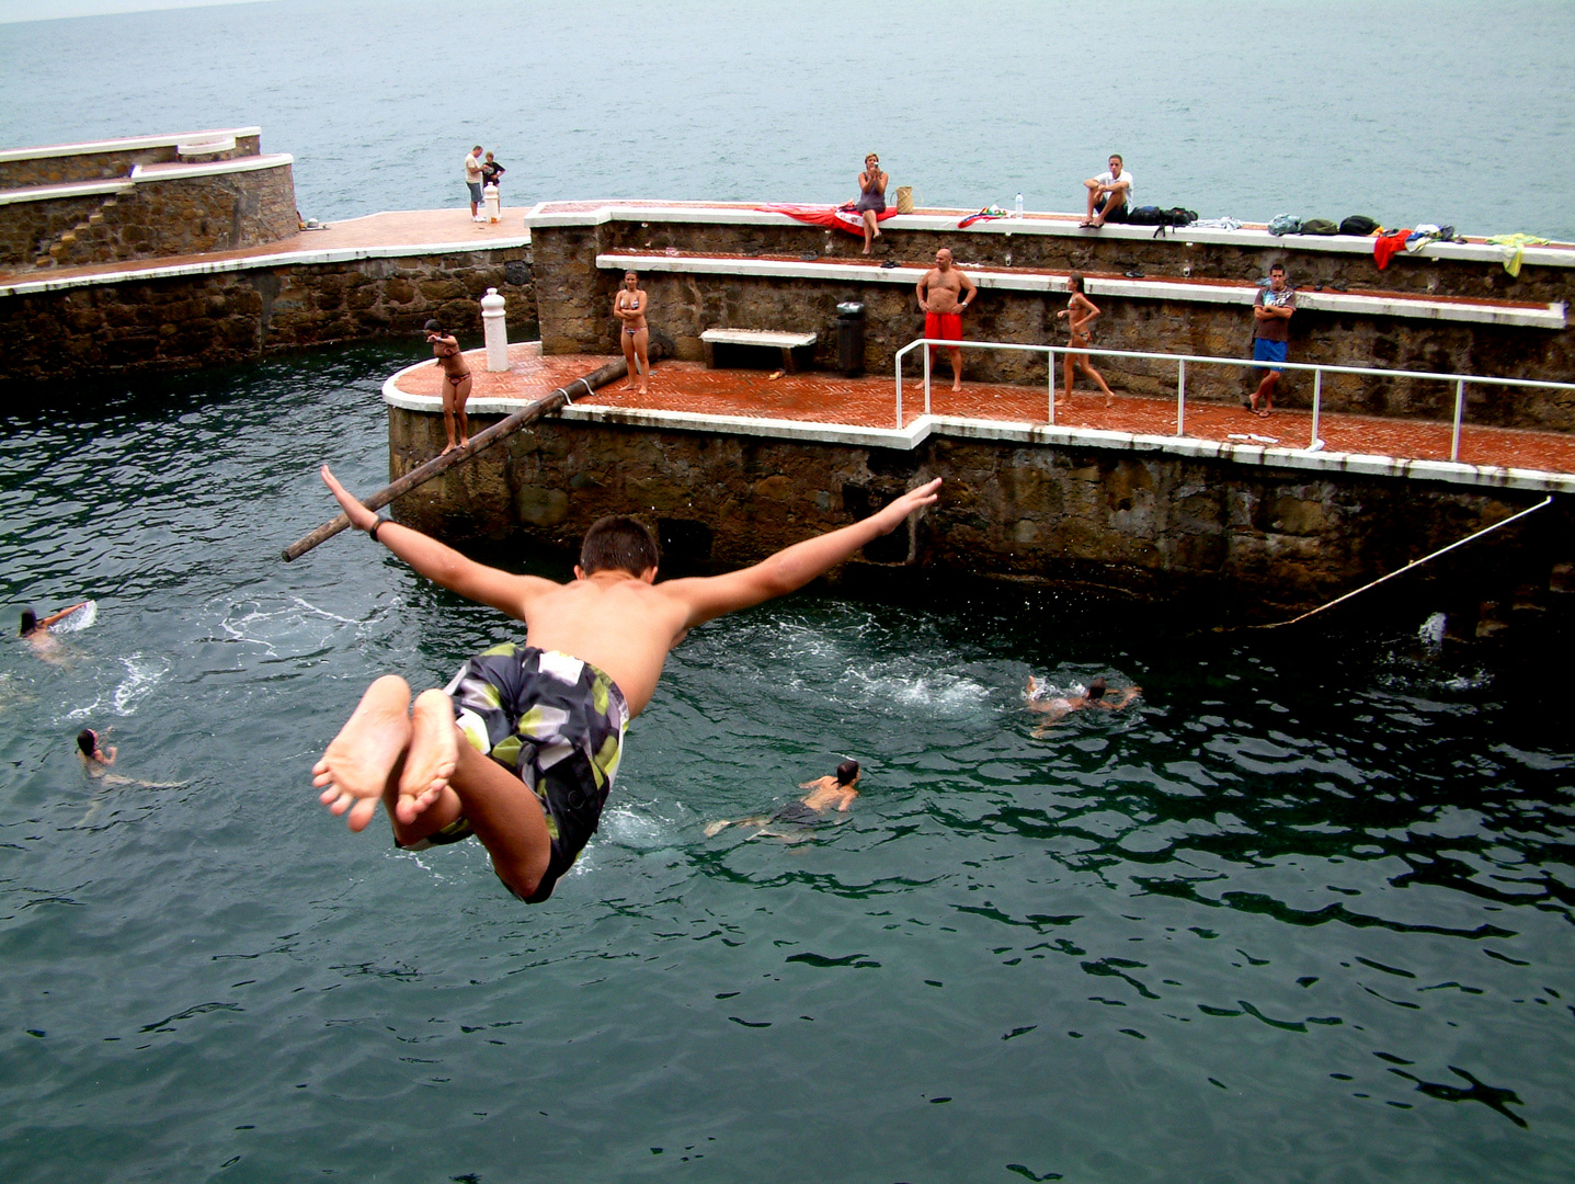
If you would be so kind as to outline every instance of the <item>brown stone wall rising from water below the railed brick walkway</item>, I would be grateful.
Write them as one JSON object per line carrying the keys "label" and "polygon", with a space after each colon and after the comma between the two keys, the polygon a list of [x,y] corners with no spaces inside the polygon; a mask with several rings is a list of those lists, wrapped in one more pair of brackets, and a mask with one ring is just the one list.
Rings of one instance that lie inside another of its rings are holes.
{"label": "brown stone wall rising from water below the railed brick walkway", "polygon": [[[441,416],[389,409],[391,479],[441,447]],[[1210,620],[1315,606],[1540,501],[1125,450],[932,436],[898,452],[543,420],[394,513],[444,538],[573,549],[603,513],[633,512],[660,527],[680,565],[732,567],[929,477],[947,479],[940,504],[917,529],[866,548],[865,562],[1197,598]],[[1575,557],[1575,527],[1558,513],[1529,576],[1544,587],[1550,562]],[[1471,562],[1520,578],[1510,570],[1520,559],[1490,556],[1484,543]]]}

